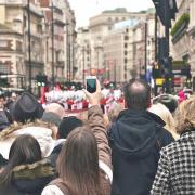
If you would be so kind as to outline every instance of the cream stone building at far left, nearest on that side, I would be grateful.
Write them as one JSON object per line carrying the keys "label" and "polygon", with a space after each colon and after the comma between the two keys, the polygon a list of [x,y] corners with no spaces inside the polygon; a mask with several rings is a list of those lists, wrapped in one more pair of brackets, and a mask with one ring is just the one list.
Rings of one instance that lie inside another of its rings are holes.
{"label": "cream stone building at far left, nearest on that side", "polygon": [[[0,40],[4,40],[4,43],[2,42],[1,47],[0,60],[2,66],[0,66],[0,68],[10,67],[9,69],[6,68],[6,70],[3,70],[3,74],[6,74],[10,87],[28,86],[29,62],[27,10],[27,1],[0,1]],[[39,6],[35,4],[35,1],[31,1],[29,12],[31,29],[31,78],[32,84],[35,86],[34,80],[36,78],[36,75],[39,72],[43,72],[43,57],[41,54],[43,51],[43,15]],[[5,31],[8,32],[6,35]]]}

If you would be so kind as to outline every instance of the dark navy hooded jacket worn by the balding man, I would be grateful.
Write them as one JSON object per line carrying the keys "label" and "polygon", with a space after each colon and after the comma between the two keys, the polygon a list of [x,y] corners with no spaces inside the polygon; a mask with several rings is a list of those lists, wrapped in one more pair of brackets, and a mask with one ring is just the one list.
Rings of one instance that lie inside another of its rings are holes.
{"label": "dark navy hooded jacket worn by the balding man", "polygon": [[113,195],[148,195],[161,147],[173,141],[165,122],[146,110],[126,109],[109,131]]}

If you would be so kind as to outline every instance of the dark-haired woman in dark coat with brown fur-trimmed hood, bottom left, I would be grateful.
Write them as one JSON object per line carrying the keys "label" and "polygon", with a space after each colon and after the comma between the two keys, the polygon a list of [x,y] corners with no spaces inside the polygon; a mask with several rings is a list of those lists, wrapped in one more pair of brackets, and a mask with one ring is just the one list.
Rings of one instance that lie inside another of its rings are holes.
{"label": "dark-haired woman in dark coat with brown fur-trimmed hood, bottom left", "polygon": [[55,177],[50,161],[42,158],[40,145],[31,135],[20,135],[13,142],[9,161],[0,171],[0,194],[40,195]]}

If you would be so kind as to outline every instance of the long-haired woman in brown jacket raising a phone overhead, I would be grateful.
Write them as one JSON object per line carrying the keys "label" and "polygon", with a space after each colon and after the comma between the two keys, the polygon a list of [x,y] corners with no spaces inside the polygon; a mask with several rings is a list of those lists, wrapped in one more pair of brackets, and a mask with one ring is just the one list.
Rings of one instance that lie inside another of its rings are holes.
{"label": "long-haired woman in brown jacket raising a phone overhead", "polygon": [[42,195],[108,195],[113,172],[110,148],[100,108],[101,87],[87,93],[89,126],[72,131],[57,159],[58,179],[52,181]]}

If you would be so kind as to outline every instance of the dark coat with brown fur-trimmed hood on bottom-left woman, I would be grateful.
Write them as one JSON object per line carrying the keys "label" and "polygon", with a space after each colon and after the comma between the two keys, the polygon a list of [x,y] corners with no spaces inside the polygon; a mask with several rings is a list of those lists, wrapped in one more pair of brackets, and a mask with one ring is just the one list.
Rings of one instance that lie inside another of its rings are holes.
{"label": "dark coat with brown fur-trimmed hood on bottom-left woman", "polygon": [[43,187],[55,178],[48,159],[17,166],[13,170],[11,185],[0,186],[0,195],[40,195]]}

